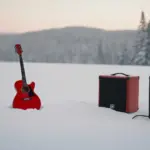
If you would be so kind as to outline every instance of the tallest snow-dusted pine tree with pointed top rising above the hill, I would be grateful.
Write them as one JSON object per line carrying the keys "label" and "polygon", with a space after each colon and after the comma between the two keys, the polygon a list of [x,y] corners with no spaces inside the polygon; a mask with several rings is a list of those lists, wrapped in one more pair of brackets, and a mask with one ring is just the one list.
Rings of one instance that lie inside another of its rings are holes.
{"label": "tallest snow-dusted pine tree with pointed top rising above the hill", "polygon": [[140,25],[138,27],[137,41],[136,45],[134,46],[135,52],[130,62],[132,64],[142,65],[144,63],[143,56],[145,53],[146,37],[147,37],[146,28],[147,24],[145,14],[142,11]]}

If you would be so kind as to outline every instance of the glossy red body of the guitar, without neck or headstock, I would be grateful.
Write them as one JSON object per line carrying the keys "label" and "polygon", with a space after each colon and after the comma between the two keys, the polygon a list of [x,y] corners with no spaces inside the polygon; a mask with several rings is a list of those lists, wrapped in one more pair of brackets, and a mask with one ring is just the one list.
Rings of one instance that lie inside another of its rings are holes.
{"label": "glossy red body of the guitar, without neck or headstock", "polygon": [[22,80],[18,80],[14,84],[16,89],[16,96],[13,100],[13,108],[18,109],[40,109],[41,107],[41,101],[38,97],[38,95],[34,92],[35,83],[31,82],[28,84],[30,88],[30,92],[23,92],[23,82]]}

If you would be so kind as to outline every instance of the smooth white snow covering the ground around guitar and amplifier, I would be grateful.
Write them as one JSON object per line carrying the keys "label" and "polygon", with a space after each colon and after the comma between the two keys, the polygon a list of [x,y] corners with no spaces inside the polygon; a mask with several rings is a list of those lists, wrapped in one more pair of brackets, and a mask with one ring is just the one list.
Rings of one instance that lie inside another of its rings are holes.
{"label": "smooth white snow covering the ground around guitar and amplifier", "polygon": [[[0,150],[149,150],[149,67],[25,63],[35,81],[41,110],[10,106],[18,63],[0,63]],[[98,76],[123,72],[140,76],[140,109],[126,114],[98,107]]]}

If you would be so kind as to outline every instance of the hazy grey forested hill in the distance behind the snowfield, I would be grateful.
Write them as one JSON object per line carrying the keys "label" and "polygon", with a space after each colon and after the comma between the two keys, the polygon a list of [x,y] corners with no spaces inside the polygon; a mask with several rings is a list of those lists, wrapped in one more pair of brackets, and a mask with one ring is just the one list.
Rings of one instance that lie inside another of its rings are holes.
{"label": "hazy grey forested hill in the distance behind the snowfield", "polygon": [[116,64],[124,47],[133,53],[136,31],[65,27],[22,34],[0,34],[0,61],[18,61],[14,44],[22,44],[24,60],[51,63]]}

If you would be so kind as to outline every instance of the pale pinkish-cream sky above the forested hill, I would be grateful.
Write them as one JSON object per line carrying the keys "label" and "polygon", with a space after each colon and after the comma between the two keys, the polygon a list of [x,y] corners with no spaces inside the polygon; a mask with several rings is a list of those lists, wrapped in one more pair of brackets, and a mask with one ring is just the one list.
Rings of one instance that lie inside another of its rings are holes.
{"label": "pale pinkish-cream sky above the forested hill", "polygon": [[150,0],[0,0],[0,32],[65,26],[136,29],[141,11],[150,19]]}

